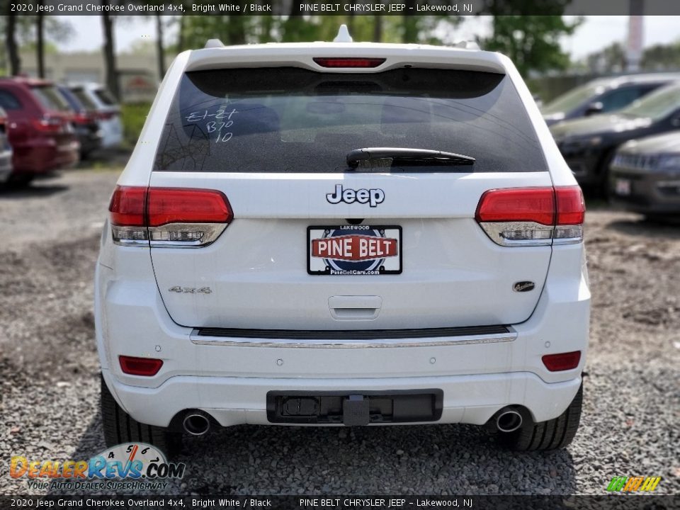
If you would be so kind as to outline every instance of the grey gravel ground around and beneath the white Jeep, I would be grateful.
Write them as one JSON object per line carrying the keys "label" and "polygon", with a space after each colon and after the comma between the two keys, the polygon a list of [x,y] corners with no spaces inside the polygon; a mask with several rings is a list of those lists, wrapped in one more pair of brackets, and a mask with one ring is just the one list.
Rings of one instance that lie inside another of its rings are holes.
{"label": "grey gravel ground around and beneath the white Jeep", "polygon": [[[0,494],[11,455],[104,447],[92,278],[117,174],[70,171],[0,191]],[[680,227],[587,214],[593,290],[584,416],[572,445],[501,450],[473,426],[238,426],[188,438],[166,494],[604,494],[613,476],[680,493]]]}

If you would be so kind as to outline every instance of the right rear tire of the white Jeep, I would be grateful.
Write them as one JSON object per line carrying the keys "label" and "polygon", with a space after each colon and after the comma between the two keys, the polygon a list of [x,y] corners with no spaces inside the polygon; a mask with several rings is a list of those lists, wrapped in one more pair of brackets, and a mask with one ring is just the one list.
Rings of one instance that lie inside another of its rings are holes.
{"label": "right rear tire of the white Jeep", "polygon": [[564,448],[572,442],[579,429],[583,402],[583,383],[569,404],[557,418],[533,423],[525,420],[523,426],[513,432],[499,432],[498,440],[502,446],[511,450],[555,450]]}

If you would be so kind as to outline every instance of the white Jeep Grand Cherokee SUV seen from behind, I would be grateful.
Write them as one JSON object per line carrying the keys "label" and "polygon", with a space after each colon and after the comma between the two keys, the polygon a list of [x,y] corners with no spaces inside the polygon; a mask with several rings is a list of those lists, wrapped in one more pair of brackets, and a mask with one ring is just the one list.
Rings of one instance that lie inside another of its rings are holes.
{"label": "white Jeep Grand Cherokee SUV seen from behind", "polygon": [[181,53],[96,268],[106,442],[210,426],[577,431],[582,193],[503,55],[353,42]]}

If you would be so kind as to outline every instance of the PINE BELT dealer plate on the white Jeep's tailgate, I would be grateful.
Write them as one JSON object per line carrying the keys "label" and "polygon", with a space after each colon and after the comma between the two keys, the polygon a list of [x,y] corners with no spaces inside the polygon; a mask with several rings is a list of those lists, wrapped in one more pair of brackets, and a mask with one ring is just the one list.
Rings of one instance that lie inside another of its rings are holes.
{"label": "PINE BELT dealer plate on the white Jeep's tailgate", "polygon": [[402,272],[402,227],[307,227],[307,273],[362,276]]}

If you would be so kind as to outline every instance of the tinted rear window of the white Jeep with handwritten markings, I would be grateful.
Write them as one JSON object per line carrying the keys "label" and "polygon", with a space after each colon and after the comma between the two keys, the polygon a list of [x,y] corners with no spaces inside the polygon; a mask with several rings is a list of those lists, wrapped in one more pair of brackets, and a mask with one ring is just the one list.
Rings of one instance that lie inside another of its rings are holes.
{"label": "tinted rear window of the white Jeep with handwritten markings", "polygon": [[446,171],[547,169],[536,132],[504,74],[276,67],[184,74],[154,170],[346,171],[346,154],[366,147],[433,149],[476,159],[474,166]]}

